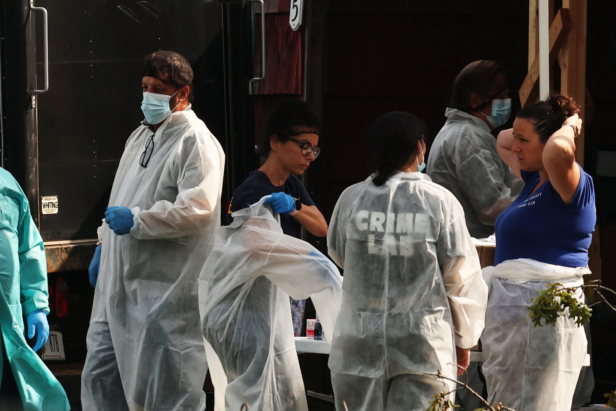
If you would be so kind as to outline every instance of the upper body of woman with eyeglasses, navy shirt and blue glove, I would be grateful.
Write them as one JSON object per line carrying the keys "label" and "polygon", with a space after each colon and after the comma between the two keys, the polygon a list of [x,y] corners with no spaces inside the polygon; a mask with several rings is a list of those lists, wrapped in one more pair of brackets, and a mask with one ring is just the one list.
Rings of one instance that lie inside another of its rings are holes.
{"label": "upper body of woman with eyeglasses, navy shirt and blue glove", "polygon": [[321,151],[317,147],[318,131],[318,118],[306,102],[287,100],[275,108],[262,146],[267,160],[235,189],[229,207],[229,221],[232,221],[234,211],[271,195],[265,203],[270,203],[275,213],[280,215],[280,226],[285,234],[299,238],[301,227],[304,227],[317,237],[327,235],[323,214],[297,177]]}

